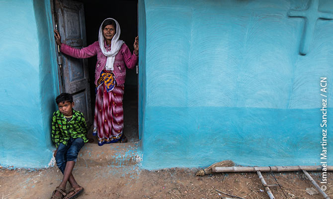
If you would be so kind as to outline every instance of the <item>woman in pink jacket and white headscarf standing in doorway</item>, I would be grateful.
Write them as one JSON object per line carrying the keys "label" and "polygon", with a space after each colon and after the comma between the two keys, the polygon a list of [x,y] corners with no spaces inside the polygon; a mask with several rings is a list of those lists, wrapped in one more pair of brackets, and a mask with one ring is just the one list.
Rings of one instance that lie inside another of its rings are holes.
{"label": "woman in pink jacket and white headscarf standing in doorway", "polygon": [[54,30],[57,44],[62,53],[75,58],[89,58],[97,55],[95,68],[96,102],[93,135],[98,145],[127,142],[123,133],[123,95],[126,68],[134,68],[138,62],[138,37],[134,41],[134,52],[130,52],[124,41],[119,40],[120,26],[113,18],[105,19],[99,27],[98,41],[82,49],[61,43],[61,37]]}

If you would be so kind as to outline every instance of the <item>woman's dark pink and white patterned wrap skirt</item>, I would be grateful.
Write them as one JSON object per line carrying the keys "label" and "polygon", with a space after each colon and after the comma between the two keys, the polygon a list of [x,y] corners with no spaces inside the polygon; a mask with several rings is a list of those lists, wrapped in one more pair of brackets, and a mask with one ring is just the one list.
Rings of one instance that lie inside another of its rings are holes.
{"label": "woman's dark pink and white patterned wrap skirt", "polygon": [[118,142],[124,128],[123,111],[124,85],[115,85],[107,92],[104,84],[97,88],[93,135],[98,137],[98,145]]}

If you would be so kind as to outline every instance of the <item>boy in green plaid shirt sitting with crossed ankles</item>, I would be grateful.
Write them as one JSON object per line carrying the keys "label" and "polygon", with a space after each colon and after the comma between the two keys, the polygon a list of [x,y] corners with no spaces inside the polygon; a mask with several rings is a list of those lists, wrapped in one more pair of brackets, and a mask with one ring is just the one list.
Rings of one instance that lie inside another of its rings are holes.
{"label": "boy in green plaid shirt sitting with crossed ankles", "polygon": [[[51,199],[73,199],[83,192],[73,177],[72,171],[80,149],[88,142],[87,127],[83,113],[73,109],[71,94],[62,93],[56,98],[59,110],[52,116],[52,141],[56,144],[54,152],[57,166],[64,174],[63,181],[52,194]],[[72,189],[66,194],[66,184]]]}

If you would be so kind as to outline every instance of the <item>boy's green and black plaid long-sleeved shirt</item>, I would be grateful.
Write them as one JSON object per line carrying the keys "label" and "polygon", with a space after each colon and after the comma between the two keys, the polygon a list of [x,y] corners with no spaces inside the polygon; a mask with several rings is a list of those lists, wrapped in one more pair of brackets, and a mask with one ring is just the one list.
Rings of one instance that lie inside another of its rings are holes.
{"label": "boy's green and black plaid long-sleeved shirt", "polygon": [[58,148],[60,143],[67,145],[67,141],[72,138],[81,137],[84,143],[88,142],[86,138],[87,127],[82,112],[73,109],[73,117],[71,121],[67,121],[66,117],[59,110],[52,115],[52,141]]}

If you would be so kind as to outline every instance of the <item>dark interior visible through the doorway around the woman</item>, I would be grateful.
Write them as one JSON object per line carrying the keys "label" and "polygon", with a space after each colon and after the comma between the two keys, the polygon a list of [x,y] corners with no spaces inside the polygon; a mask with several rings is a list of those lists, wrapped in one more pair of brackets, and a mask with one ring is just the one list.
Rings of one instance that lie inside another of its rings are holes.
{"label": "dark interior visible through the doorway around the woman", "polygon": [[[99,26],[105,18],[111,17],[119,22],[120,39],[125,41],[131,52],[138,35],[137,0],[77,0],[83,2],[86,43],[98,40]],[[95,72],[96,56],[88,58],[90,98],[92,114],[95,107]],[[139,140],[138,133],[138,76],[135,69],[126,69],[124,106],[124,133],[129,142]],[[91,132],[89,132],[91,133]]]}

